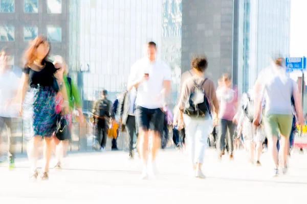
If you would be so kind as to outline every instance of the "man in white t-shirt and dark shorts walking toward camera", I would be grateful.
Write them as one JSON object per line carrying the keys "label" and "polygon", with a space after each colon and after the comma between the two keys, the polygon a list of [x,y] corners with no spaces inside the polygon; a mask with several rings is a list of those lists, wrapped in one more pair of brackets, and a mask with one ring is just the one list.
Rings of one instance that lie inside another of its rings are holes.
{"label": "man in white t-shirt and dark shorts walking toward camera", "polygon": [[151,172],[155,174],[155,158],[161,146],[161,132],[163,129],[163,109],[165,96],[170,91],[170,68],[156,59],[157,46],[155,42],[148,42],[145,47],[146,57],[137,61],[131,68],[128,91],[137,88],[136,120],[139,127],[139,151],[143,160],[142,179],[148,178],[148,130],[152,137]]}

